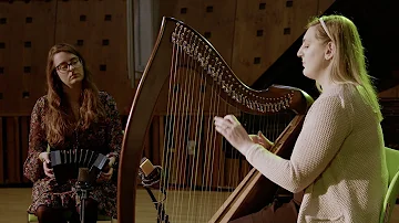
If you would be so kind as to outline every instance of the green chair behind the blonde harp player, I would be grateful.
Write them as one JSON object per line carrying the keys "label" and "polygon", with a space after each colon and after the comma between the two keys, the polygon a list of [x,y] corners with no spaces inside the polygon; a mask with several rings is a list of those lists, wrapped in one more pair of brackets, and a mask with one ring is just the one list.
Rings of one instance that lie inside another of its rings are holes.
{"label": "green chair behind the blonde harp player", "polygon": [[380,223],[388,223],[399,194],[399,151],[386,147],[389,187],[383,199]]}

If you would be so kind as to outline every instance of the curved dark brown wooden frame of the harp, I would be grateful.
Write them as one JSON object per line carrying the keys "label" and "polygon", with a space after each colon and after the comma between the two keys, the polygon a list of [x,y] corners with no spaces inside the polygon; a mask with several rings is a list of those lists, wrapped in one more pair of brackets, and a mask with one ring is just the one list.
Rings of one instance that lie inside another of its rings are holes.
{"label": "curved dark brown wooden frame of the harp", "polygon": [[[219,62],[226,64],[226,72],[231,74],[235,81],[231,86],[222,86],[224,89],[219,95],[222,98],[233,106],[252,114],[265,115],[274,113],[277,109],[286,109],[286,105],[288,105],[290,109],[297,114],[279,138],[277,138],[274,147],[272,148],[272,151],[276,155],[285,158],[289,157],[290,151],[289,149],[287,151],[285,148],[291,148],[295,144],[295,139],[299,134],[305,114],[313,103],[313,98],[308,94],[295,87],[272,85],[265,91],[250,89],[234,75],[233,71],[227,66],[227,63],[206,39],[202,38],[200,33],[184,24],[182,21],[174,18],[163,17],[157,40],[131,106],[123,137],[117,177],[117,221],[120,223],[135,222],[136,179],[145,145],[145,135],[151,126],[154,108],[161,94],[161,89],[163,85],[167,83],[166,79],[170,76],[170,73],[165,72],[165,67],[170,68],[172,63],[173,44],[171,42],[178,41],[173,40],[172,36],[167,36],[166,34],[174,33],[176,25],[178,24],[187,28],[192,33],[200,36],[201,41],[205,45],[209,46],[209,51],[219,59]],[[180,35],[176,35],[175,38],[178,36]],[[152,64],[156,64],[156,66],[152,66]],[[156,75],[149,75],[150,73]],[[212,79],[212,77],[207,78]],[[219,81],[222,82],[223,79],[221,78]],[[241,92],[234,93],[235,97],[232,99],[232,92],[229,91],[237,87],[238,84],[241,87],[238,87],[239,89],[237,91]],[[241,97],[238,98],[239,95]],[[242,97],[243,95],[245,96]],[[272,98],[270,106],[268,106],[267,103],[258,104],[257,98],[259,97]],[[273,104],[273,102],[278,100],[289,100],[289,104]],[[268,184],[270,191],[277,187],[263,177],[257,170],[253,169],[226,200],[223,205],[225,208],[221,208],[209,222],[227,222],[228,220],[248,214],[249,211],[254,212],[258,210],[259,205],[264,205],[264,203],[259,204],[258,202],[254,202],[255,197],[257,197],[254,188],[264,187],[265,184]],[[265,191],[263,195],[270,195],[265,194],[270,193],[270,191]]]}

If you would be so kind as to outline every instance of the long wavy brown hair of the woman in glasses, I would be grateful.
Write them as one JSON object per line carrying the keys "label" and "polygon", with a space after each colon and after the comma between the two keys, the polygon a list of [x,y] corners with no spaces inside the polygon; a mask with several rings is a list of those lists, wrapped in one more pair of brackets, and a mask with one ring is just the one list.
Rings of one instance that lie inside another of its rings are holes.
{"label": "long wavy brown hair of the woman in glasses", "polygon": [[[60,52],[76,55],[83,65],[82,93],[80,97],[80,120],[76,123],[62,88],[62,82],[54,67],[54,55]],[[104,116],[104,107],[100,102],[99,89],[92,81],[92,74],[88,70],[82,55],[70,44],[60,43],[49,51],[47,63],[47,100],[49,108],[45,114],[47,139],[52,146],[63,144],[66,136],[79,127],[88,129],[92,123]]]}

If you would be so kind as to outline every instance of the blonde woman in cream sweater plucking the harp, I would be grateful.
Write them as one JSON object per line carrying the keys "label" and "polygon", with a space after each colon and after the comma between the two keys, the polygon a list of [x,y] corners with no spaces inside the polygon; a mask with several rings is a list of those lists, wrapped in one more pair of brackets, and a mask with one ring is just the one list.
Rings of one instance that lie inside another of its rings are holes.
{"label": "blonde woman in cream sweater plucking the harp", "polygon": [[388,185],[382,115],[359,33],[352,21],[335,14],[315,18],[307,28],[297,55],[321,94],[290,159],[269,152],[273,144],[263,135],[248,136],[232,115],[215,117],[216,130],[270,181],[304,191],[298,223],[379,222]]}

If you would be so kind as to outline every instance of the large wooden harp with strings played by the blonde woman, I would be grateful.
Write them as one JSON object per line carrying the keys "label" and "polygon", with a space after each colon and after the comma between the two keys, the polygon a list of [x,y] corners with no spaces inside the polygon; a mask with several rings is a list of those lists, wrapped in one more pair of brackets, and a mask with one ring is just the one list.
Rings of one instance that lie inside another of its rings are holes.
{"label": "large wooden harp with strings played by the blonde woman", "polygon": [[[247,87],[200,33],[163,18],[125,128],[117,182],[119,222],[137,222],[136,177],[157,117],[165,129],[158,135],[162,146],[155,148],[165,170],[161,188],[166,188],[170,198],[177,194],[174,200],[181,210],[171,210],[167,222],[228,222],[270,203],[278,187],[215,132],[213,117],[236,115],[249,134],[266,132],[275,142],[274,153],[289,158],[311,103],[309,95],[294,87]],[[287,120],[284,127],[282,120]],[[190,198],[187,204],[183,197]],[[207,197],[222,199],[200,208]],[[184,215],[190,212],[195,214]]]}

